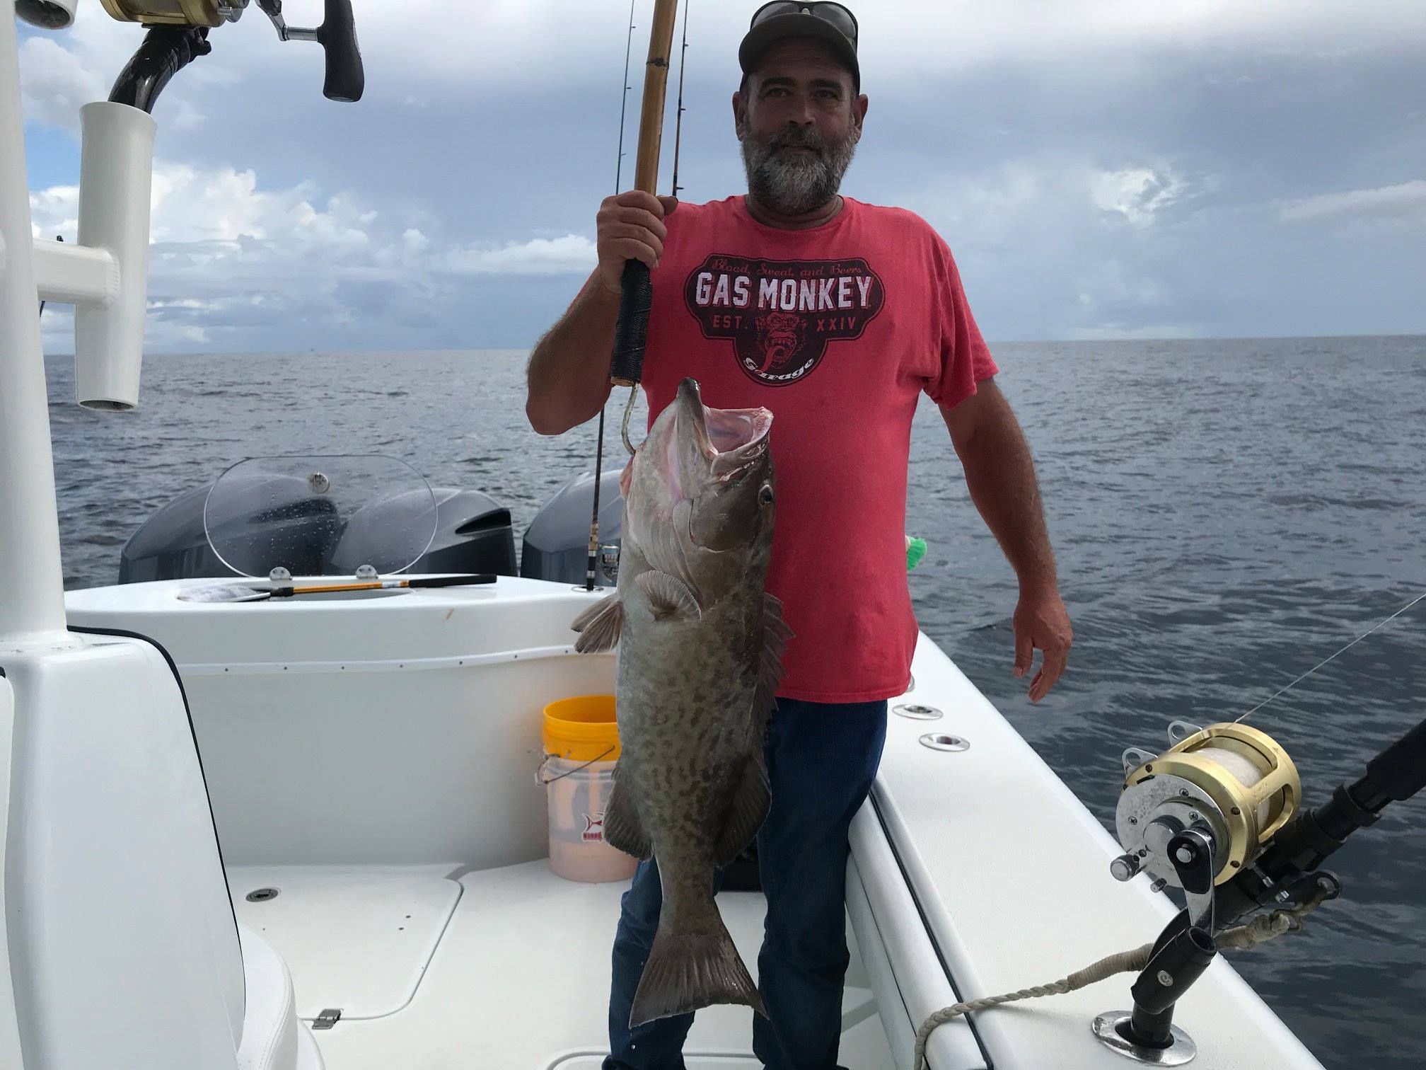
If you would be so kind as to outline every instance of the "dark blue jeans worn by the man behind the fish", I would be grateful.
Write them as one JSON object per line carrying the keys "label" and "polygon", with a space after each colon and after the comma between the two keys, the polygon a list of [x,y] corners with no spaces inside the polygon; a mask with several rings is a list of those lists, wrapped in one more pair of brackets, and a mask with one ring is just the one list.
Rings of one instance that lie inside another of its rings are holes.
{"label": "dark blue jeans worn by the man behind the fish", "polygon": [[[887,703],[779,699],[764,752],[773,800],[757,833],[767,896],[757,983],[769,1017],[753,1016],[753,1053],[769,1070],[834,1070],[847,973],[847,827],[871,790]],[[722,873],[713,876],[714,887]],[[609,993],[603,1070],[684,1070],[692,1014],[629,1029],[629,1007],[659,927],[657,860],[623,896]]]}

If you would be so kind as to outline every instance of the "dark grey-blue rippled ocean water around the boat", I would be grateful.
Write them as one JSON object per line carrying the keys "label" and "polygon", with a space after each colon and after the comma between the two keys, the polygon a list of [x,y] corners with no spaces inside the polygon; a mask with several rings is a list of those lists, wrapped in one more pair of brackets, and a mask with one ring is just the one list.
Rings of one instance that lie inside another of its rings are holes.
{"label": "dark grey-blue rippled ocean water around the boat", "polygon": [[[1038,706],[1011,676],[1014,576],[928,402],[907,505],[907,529],[930,544],[915,608],[1111,827],[1125,746],[1165,745],[1172,719],[1236,718],[1426,591],[1426,338],[994,350],[1037,458],[1070,669]],[[140,409],[114,415],[74,407],[73,362],[51,358],[66,585],[116,582],[145,516],[262,454],[388,454],[434,485],[489,492],[522,531],[592,468],[595,441],[593,424],[529,431],[523,364],[508,351],[153,357]],[[613,421],[607,442],[617,462]],[[1249,723],[1293,755],[1313,805],[1423,716],[1426,602]],[[1233,962],[1328,1067],[1419,1070],[1426,795],[1387,807],[1330,869],[1343,897],[1305,934]]]}

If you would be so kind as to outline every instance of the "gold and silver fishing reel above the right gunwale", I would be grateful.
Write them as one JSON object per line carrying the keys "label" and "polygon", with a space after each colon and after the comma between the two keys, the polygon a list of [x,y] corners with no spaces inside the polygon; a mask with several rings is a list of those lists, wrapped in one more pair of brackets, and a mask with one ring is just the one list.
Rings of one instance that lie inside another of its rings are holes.
{"label": "gold and silver fishing reel above the right gunwale", "polygon": [[1196,830],[1212,843],[1214,883],[1241,873],[1268,846],[1302,799],[1298,768],[1266,732],[1248,725],[1169,725],[1169,749],[1124,752],[1124,789],[1115,825],[1125,855],[1111,872],[1139,870],[1182,887],[1169,842]]}

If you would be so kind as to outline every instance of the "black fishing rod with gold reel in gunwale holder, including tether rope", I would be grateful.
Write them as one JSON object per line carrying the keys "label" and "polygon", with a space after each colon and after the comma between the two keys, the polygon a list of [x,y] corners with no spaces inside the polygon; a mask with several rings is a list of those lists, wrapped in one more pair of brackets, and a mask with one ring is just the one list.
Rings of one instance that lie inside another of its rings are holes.
{"label": "black fishing rod with gold reel in gunwale holder, including tether rope", "polygon": [[[1142,947],[1109,954],[1050,984],[935,1012],[915,1033],[915,1070],[925,1067],[930,1034],[953,1019],[1077,992],[1118,973],[1138,974],[1129,987],[1132,1009],[1094,1019],[1091,1029],[1099,1043],[1145,1064],[1191,1061],[1196,1046],[1174,1024],[1174,1010],[1218,952],[1302,932],[1308,914],[1342,893],[1342,882],[1320,869],[1322,863],[1350,835],[1375,825],[1386,806],[1426,789],[1426,719],[1372,758],[1363,776],[1339,785],[1312,810],[1302,809],[1302,782],[1292,758],[1243,719],[1422,602],[1426,593],[1238,720],[1206,728],[1175,720],[1168,726],[1166,750],[1125,749],[1115,809],[1125,853],[1109,863],[1109,873],[1115,880],[1148,873],[1154,877],[1151,890],[1182,890],[1184,909]],[[1241,919],[1249,920],[1233,924]]]}

